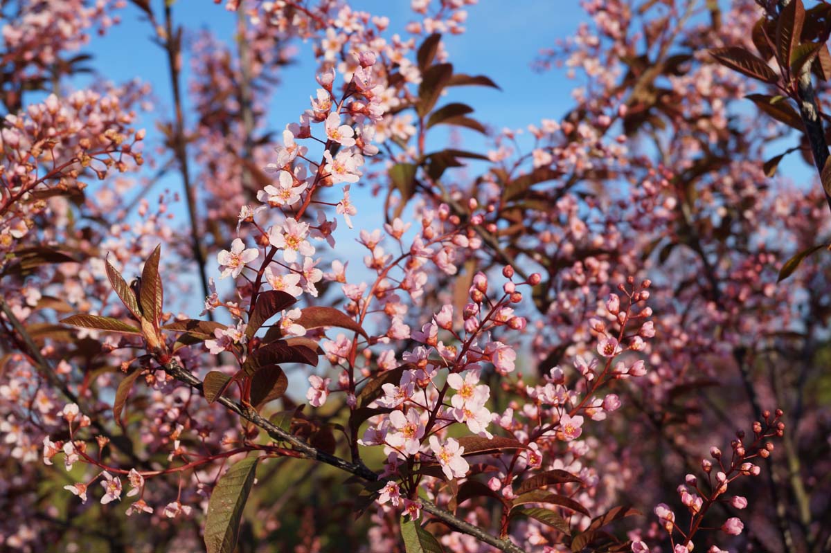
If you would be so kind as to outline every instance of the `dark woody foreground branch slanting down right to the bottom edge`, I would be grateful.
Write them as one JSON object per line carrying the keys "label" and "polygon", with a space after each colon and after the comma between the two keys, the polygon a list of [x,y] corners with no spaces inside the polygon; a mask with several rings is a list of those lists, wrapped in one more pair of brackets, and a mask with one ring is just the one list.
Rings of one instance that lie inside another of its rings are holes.
{"label": "dark woody foreground branch slanting down right to the bottom edge", "polygon": [[[202,390],[202,383],[199,379],[196,378],[194,374],[191,374],[185,370],[182,365],[179,365],[179,361],[171,359],[167,363],[161,364],[161,366],[165,369],[167,374],[170,374],[170,376],[179,380],[179,382],[188,384],[194,389],[199,389],[200,391]],[[247,405],[238,404],[234,400],[223,396],[219,396],[216,402],[218,404],[222,404],[226,409],[229,409],[229,411],[233,411],[238,414],[249,423],[253,423],[258,428],[262,428],[266,431],[266,433],[268,433],[270,438],[291,443],[293,447],[302,453],[305,458],[325,462],[327,465],[332,465],[332,467],[339,468],[342,471],[350,472],[356,477],[366,480],[366,482],[377,482],[378,480],[381,480],[381,477],[376,472],[372,471],[369,467],[366,467],[366,465],[362,462],[349,462],[346,459],[336,457],[329,453],[323,452],[320,449],[314,448],[302,439],[294,436],[292,433],[288,433],[283,430],[283,428],[274,425],[268,421],[267,418],[263,418],[257,413],[257,411]],[[421,498],[419,498],[418,502],[420,502],[421,508],[424,511],[429,512],[432,516],[435,516],[437,519],[445,522],[448,526],[455,528],[457,531],[469,536],[474,536],[477,540],[482,541],[489,546],[494,546],[499,549],[499,551],[504,551],[504,553],[525,553],[512,541],[499,540],[499,538],[491,536],[481,528],[457,518],[452,513],[435,505],[435,503]]]}

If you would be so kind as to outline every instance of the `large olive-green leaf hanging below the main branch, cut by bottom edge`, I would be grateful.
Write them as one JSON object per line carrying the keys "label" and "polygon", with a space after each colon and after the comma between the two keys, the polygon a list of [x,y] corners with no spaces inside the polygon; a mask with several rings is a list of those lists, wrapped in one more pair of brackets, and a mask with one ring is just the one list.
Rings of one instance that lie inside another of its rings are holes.
{"label": "large olive-green leaf hanging below the main branch, cut by bottom edge", "polygon": [[238,461],[219,478],[208,502],[204,541],[208,553],[234,553],[239,522],[254,483],[258,457]]}

